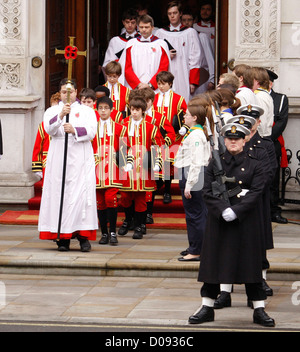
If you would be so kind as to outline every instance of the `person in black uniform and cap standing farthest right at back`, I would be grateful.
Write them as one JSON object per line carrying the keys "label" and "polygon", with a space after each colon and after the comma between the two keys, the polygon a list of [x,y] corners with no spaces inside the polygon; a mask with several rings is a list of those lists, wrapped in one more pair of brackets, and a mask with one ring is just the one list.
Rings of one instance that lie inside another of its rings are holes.
{"label": "person in black uniform and cap standing farthest right at back", "polygon": [[281,160],[286,159],[284,140],[282,134],[287,126],[289,117],[289,100],[285,94],[277,93],[273,90],[273,83],[278,78],[278,75],[267,70],[270,78],[270,90],[271,97],[274,102],[274,125],[272,128],[271,139],[274,143],[276,158],[277,158],[277,168],[275,172],[275,177],[271,184],[271,218],[273,222],[280,224],[287,224],[288,220],[281,215],[281,207],[279,206],[279,184],[280,184],[280,170],[281,170]]}

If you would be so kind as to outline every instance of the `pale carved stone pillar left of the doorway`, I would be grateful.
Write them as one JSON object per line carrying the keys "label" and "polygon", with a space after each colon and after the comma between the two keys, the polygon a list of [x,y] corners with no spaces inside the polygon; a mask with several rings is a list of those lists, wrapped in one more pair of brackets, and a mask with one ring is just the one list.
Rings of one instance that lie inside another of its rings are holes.
{"label": "pale carved stone pillar left of the doorway", "polygon": [[[33,58],[41,66],[34,67]],[[0,0],[0,203],[27,203],[33,196],[31,157],[44,111],[44,63],[45,0]]]}

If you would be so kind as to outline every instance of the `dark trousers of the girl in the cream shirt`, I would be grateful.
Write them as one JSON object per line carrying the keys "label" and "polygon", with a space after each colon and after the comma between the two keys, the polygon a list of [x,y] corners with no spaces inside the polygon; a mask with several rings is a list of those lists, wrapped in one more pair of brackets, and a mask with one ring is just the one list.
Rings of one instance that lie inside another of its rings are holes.
{"label": "dark trousers of the girl in the cream shirt", "polygon": [[207,208],[202,198],[202,191],[191,191],[192,198],[184,196],[186,175],[188,170],[180,169],[179,187],[185,211],[187,235],[189,241],[188,251],[193,255],[200,255],[204,237]]}

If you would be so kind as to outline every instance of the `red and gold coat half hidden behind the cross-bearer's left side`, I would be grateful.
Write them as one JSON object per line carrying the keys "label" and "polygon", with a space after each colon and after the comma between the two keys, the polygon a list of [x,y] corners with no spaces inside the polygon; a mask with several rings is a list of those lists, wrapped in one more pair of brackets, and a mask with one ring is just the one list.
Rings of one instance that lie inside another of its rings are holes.
{"label": "red and gold coat half hidden behind the cross-bearer's left side", "polygon": [[50,136],[45,131],[44,122],[39,124],[32,153],[32,171],[45,173]]}

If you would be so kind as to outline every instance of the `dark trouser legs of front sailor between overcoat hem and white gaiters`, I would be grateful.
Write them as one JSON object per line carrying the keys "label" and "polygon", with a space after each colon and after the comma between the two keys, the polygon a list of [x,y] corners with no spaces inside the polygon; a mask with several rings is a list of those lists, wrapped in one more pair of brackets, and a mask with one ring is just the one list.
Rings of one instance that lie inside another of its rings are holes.
{"label": "dark trouser legs of front sailor between overcoat hem and white gaiters", "polygon": [[[262,282],[245,284],[245,289],[247,297],[250,301],[264,301],[267,299],[267,295],[263,288]],[[208,297],[211,299],[217,299],[219,293],[219,284],[204,283],[200,290],[201,297]]]}

